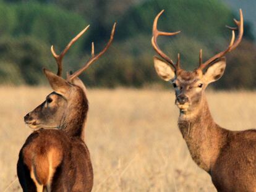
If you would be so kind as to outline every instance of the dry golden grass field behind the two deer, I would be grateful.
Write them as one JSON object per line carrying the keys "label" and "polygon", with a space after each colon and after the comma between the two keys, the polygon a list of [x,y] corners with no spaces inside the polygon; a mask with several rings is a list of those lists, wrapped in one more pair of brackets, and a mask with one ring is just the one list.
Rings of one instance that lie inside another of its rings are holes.
{"label": "dry golden grass field behind the two deer", "polygon": [[[49,88],[0,87],[0,191],[21,191],[16,162],[31,130],[23,115],[45,99]],[[223,127],[256,127],[255,92],[207,93]],[[178,109],[168,90],[88,90],[86,143],[95,173],[93,191],[215,191],[192,161],[177,128]],[[9,185],[11,182],[13,183]]]}

